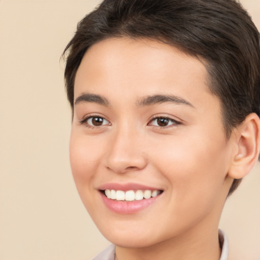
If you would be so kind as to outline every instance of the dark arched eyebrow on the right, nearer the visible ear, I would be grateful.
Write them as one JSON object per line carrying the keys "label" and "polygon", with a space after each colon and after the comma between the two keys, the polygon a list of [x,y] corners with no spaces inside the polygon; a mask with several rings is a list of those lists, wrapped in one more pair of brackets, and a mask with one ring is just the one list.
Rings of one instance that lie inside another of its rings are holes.
{"label": "dark arched eyebrow on the right, nearer the visible ear", "polygon": [[183,104],[194,108],[194,106],[190,104],[188,101],[180,98],[179,96],[171,95],[171,94],[149,95],[139,100],[137,102],[137,105],[139,107],[142,107],[142,106],[151,106],[151,105],[162,104],[162,103]]}

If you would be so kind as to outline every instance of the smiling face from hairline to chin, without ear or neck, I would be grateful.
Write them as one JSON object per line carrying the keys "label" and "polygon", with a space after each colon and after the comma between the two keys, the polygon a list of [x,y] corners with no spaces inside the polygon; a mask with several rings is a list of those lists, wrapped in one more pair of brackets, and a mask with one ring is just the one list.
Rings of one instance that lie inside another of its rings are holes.
{"label": "smiling face from hairline to chin, without ear or neck", "polygon": [[75,79],[70,141],[80,197],[103,235],[145,247],[217,229],[232,148],[196,57],[108,39]]}

